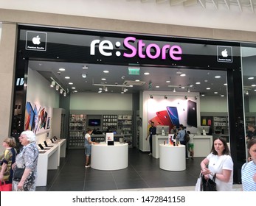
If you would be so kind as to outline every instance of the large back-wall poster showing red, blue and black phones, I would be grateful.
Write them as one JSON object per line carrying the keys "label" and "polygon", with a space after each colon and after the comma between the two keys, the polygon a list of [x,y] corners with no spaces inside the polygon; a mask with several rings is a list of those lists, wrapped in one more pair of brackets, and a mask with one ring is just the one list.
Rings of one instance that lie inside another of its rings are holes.
{"label": "large back-wall poster showing red, blue and black phones", "polygon": [[197,132],[197,102],[193,99],[173,97],[171,99],[148,99],[148,129],[151,122],[169,126],[170,130],[176,125],[183,124],[192,133]]}

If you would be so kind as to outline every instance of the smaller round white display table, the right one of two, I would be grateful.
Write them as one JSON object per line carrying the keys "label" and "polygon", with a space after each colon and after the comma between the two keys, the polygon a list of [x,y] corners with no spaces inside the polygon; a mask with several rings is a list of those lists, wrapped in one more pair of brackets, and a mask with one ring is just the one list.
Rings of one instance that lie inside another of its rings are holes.
{"label": "smaller round white display table, the right one of two", "polygon": [[185,146],[160,144],[160,168],[167,171],[183,171],[186,169]]}

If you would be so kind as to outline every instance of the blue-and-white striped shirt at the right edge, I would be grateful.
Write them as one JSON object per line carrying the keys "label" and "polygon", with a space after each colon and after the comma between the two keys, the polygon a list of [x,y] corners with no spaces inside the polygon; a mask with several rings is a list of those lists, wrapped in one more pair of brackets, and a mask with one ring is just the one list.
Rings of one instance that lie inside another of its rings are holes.
{"label": "blue-and-white striped shirt at the right edge", "polygon": [[252,177],[256,173],[256,164],[254,161],[244,163],[241,169],[243,191],[256,191],[256,182]]}

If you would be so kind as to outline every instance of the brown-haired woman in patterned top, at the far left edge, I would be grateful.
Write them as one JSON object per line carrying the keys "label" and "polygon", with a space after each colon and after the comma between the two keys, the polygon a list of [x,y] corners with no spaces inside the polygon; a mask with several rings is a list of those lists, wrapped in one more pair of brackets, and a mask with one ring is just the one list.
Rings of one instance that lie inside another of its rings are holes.
{"label": "brown-haired woman in patterned top, at the far left edge", "polygon": [[3,146],[4,153],[0,156],[0,181],[4,180],[8,184],[13,182],[12,165],[17,154],[15,138],[5,138]]}

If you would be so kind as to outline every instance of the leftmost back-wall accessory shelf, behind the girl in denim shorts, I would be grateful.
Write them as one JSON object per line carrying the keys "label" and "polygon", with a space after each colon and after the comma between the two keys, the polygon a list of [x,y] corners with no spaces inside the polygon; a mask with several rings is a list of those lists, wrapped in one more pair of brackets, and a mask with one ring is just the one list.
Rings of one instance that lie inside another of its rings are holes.
{"label": "leftmost back-wall accessory shelf, behind the girl in denim shorts", "polygon": [[71,114],[69,116],[69,149],[84,148],[84,132],[86,132],[86,115]]}

